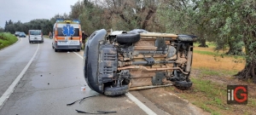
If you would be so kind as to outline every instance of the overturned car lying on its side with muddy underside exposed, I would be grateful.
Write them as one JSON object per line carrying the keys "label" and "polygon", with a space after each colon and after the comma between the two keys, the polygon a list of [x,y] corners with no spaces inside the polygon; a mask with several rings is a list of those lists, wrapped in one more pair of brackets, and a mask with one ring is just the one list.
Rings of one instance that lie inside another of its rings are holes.
{"label": "overturned car lying on its side with muddy underside exposed", "polygon": [[193,35],[98,30],[85,44],[85,81],[110,96],[170,85],[189,89],[195,41]]}

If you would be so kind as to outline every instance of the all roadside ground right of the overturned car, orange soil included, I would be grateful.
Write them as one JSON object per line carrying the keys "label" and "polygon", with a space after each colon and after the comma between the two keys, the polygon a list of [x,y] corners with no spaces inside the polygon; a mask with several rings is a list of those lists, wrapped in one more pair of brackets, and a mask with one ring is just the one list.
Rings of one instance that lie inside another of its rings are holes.
{"label": "all roadside ground right of the overturned car, orange soil included", "polygon": [[[174,86],[140,90],[139,93],[170,114],[232,114],[256,115],[256,84],[233,77],[245,66],[242,58],[229,55],[205,55],[216,53],[213,49],[195,48],[202,51],[193,55],[190,74],[193,85],[188,90]],[[227,104],[227,85],[247,85],[247,105]],[[150,91],[151,90],[151,91]]]}

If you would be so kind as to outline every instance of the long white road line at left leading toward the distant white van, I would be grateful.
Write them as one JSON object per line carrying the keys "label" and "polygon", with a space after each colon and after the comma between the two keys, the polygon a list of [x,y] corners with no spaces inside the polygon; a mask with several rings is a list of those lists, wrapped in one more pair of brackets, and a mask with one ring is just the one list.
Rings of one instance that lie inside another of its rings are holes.
{"label": "long white road line at left leading toward the distant white van", "polygon": [[[39,49],[39,43],[38,43]],[[23,77],[27,68],[31,65],[32,60],[34,60],[35,56],[38,54],[38,49],[36,50],[35,54],[32,56],[32,59],[26,64],[25,68],[20,72],[20,75],[15,78],[15,81],[9,86],[9,88],[4,92],[4,94],[0,97],[0,109],[3,107],[5,101],[8,100],[9,96],[15,91],[15,86],[20,82],[20,79]]]}

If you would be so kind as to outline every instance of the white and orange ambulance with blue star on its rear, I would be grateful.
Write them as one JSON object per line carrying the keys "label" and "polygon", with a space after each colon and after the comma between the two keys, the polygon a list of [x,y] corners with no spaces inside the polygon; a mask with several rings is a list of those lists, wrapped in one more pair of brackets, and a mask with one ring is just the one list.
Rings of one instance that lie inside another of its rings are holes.
{"label": "white and orange ambulance with blue star on its rear", "polygon": [[79,20],[56,20],[53,26],[52,48],[59,50],[80,51],[82,32]]}

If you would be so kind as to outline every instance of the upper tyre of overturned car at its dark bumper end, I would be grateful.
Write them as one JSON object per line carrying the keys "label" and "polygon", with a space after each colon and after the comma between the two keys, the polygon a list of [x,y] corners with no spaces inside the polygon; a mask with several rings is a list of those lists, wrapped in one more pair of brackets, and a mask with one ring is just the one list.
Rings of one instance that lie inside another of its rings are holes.
{"label": "upper tyre of overturned car at its dark bumper end", "polygon": [[140,34],[135,32],[122,33],[116,36],[117,43],[136,43],[140,40]]}

